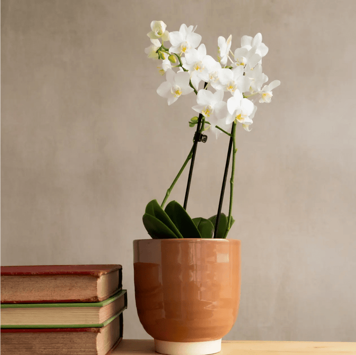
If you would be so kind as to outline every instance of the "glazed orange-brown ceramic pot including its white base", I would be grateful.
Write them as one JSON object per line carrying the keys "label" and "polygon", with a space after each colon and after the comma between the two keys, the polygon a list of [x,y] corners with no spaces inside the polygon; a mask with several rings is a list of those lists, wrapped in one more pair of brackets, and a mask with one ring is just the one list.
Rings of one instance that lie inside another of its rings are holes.
{"label": "glazed orange-brown ceramic pot including its white base", "polygon": [[134,240],[139,320],[167,355],[208,355],[234,325],[240,302],[241,241]]}

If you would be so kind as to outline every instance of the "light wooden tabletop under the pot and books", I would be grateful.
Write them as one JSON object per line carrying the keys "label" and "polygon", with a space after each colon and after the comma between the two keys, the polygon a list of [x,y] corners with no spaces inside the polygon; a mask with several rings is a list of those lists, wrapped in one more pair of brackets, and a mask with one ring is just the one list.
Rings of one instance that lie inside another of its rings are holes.
{"label": "light wooden tabletop under the pot and books", "polygon": [[[110,355],[150,355],[153,340],[123,339]],[[356,343],[340,342],[276,342],[276,341],[223,341],[220,355],[356,355]]]}

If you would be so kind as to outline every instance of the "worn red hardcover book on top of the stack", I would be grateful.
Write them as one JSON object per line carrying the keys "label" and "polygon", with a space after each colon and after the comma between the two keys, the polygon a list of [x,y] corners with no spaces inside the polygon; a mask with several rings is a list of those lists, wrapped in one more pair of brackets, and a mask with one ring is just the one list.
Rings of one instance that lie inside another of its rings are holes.
{"label": "worn red hardcover book on top of the stack", "polygon": [[122,266],[1,266],[0,287],[1,304],[100,302],[122,289]]}

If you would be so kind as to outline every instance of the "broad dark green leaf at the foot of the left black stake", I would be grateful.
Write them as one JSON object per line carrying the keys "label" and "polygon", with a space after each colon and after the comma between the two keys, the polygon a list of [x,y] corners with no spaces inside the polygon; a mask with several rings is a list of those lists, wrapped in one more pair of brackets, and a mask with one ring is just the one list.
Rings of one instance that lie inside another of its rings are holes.
{"label": "broad dark green leaf at the foot of the left black stake", "polygon": [[177,201],[168,203],[165,212],[176,225],[183,238],[201,238],[194,222]]}

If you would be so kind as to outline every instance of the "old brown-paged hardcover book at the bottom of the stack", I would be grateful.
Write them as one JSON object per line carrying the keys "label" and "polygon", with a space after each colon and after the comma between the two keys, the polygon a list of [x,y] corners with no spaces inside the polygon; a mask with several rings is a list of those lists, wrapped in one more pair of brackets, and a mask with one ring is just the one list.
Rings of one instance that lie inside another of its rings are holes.
{"label": "old brown-paged hardcover book at the bottom of the stack", "polygon": [[122,313],[97,328],[1,329],[0,355],[109,355],[122,338]]}

